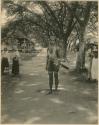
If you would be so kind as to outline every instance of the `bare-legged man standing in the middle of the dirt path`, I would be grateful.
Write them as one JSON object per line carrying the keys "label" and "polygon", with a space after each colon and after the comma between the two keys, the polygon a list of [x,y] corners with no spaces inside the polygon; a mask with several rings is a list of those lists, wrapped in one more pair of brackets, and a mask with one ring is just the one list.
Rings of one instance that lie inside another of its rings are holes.
{"label": "bare-legged man standing in the middle of the dirt path", "polygon": [[48,94],[52,93],[52,87],[53,87],[53,75],[55,78],[55,90],[58,89],[58,71],[60,67],[60,51],[59,47],[55,44],[55,38],[52,36],[49,44],[49,47],[47,49],[47,63],[46,63],[46,70],[48,70],[49,74],[49,87],[50,91]]}

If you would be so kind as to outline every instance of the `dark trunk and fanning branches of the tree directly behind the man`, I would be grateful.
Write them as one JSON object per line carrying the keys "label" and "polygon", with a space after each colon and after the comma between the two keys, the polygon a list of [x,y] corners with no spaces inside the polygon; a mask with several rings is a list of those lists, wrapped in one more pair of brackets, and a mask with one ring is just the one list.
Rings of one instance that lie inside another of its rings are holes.
{"label": "dark trunk and fanning branches of the tree directly behind the man", "polygon": [[[46,17],[48,31],[52,31],[54,35],[63,42],[64,47],[64,58],[66,58],[67,50],[67,40],[72,32],[76,21],[74,20],[73,14],[67,10],[66,2],[57,3],[56,10],[53,10],[53,6],[43,1],[40,2],[40,5],[44,9],[44,14]],[[71,10],[76,12],[76,3],[71,4]],[[50,29],[51,28],[51,29]]]}

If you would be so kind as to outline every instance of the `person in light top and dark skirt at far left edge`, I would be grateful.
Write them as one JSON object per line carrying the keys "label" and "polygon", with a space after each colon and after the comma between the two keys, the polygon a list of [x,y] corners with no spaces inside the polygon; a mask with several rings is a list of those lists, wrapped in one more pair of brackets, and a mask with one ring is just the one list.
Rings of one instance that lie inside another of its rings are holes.
{"label": "person in light top and dark skirt at far left edge", "polygon": [[3,52],[1,53],[2,59],[1,59],[1,73],[4,74],[4,71],[9,71],[9,53],[7,48],[4,48]]}

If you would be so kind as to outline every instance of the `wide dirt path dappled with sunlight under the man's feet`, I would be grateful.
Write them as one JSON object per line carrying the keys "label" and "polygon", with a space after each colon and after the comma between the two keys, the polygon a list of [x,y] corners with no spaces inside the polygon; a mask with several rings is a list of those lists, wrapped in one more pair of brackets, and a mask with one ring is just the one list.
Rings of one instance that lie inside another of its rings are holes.
{"label": "wide dirt path dappled with sunlight under the man's feet", "polygon": [[59,92],[46,95],[46,50],[23,61],[21,76],[2,77],[2,123],[95,124],[97,84],[81,82],[61,68]]}

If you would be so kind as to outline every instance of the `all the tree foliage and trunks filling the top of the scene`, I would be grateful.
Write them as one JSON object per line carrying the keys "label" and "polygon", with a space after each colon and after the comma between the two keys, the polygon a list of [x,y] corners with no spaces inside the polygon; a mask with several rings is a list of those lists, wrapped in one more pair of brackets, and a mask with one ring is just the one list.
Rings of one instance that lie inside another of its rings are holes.
{"label": "all the tree foliage and trunks filling the top of the scene", "polygon": [[[62,44],[63,58],[67,49],[76,46],[79,39],[79,51],[76,68],[85,68],[85,50],[87,33],[97,36],[97,2],[48,2],[2,0],[2,11],[6,10],[8,19],[2,26],[2,40],[17,39],[16,32],[21,32],[28,39],[34,37],[43,46],[48,46],[50,36],[56,37],[57,44]],[[90,41],[90,40],[89,40]],[[13,40],[11,41],[13,44]]]}

